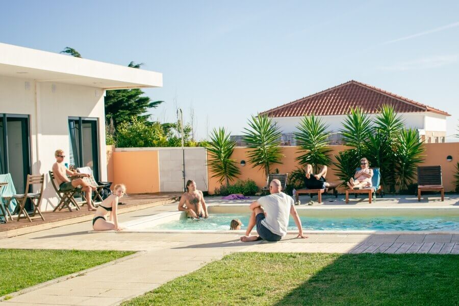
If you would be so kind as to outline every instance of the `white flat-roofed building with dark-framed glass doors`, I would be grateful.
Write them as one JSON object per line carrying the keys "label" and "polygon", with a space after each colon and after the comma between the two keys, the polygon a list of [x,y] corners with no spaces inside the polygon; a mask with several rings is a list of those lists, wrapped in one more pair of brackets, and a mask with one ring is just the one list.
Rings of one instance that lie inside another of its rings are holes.
{"label": "white flat-roofed building with dark-framed glass doors", "polygon": [[57,204],[56,149],[107,180],[106,90],[162,85],[161,73],[0,43],[0,174],[22,193],[27,174],[45,173],[43,210]]}

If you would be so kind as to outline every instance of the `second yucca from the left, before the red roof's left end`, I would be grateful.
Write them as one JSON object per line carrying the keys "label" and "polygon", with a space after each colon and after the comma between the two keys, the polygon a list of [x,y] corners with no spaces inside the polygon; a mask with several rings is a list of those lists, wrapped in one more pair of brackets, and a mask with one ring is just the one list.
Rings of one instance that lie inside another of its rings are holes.
{"label": "second yucca from the left, before the red roof's left end", "polygon": [[266,177],[270,173],[270,166],[282,163],[281,131],[272,124],[267,115],[251,116],[249,128],[244,128],[243,140],[247,143],[249,163],[252,168],[260,167]]}

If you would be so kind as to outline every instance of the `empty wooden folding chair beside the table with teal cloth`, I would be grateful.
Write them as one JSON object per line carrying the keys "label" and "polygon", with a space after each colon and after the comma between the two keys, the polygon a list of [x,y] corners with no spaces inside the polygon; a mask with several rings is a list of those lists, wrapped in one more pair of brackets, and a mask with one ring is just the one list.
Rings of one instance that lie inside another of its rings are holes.
{"label": "empty wooden folding chair beside the table with teal cloth", "polygon": [[25,203],[27,202],[27,199],[30,199],[32,205],[34,206],[34,211],[33,211],[33,214],[32,214],[32,217],[35,216],[36,213],[38,213],[41,217],[41,219],[43,219],[43,221],[45,220],[43,215],[41,214],[41,211],[40,211],[40,204],[41,204],[41,198],[42,198],[42,195],[43,195],[43,182],[44,182],[44,174],[38,174],[38,175],[30,175],[28,174],[27,175],[27,184],[25,185],[25,191],[27,192],[29,190],[29,187],[31,185],[37,185],[37,184],[40,184],[40,192],[37,192],[37,193],[24,193],[24,194],[17,194],[17,195],[13,195],[9,201],[8,201],[8,206],[11,202],[11,200],[14,198],[16,199],[17,203],[18,203],[18,215],[17,215],[17,221],[19,221],[21,219],[21,214],[24,214],[24,217],[27,217],[27,219],[29,219],[30,222],[32,222],[32,219],[30,218],[29,216],[29,213],[27,213],[27,210],[25,209]]}

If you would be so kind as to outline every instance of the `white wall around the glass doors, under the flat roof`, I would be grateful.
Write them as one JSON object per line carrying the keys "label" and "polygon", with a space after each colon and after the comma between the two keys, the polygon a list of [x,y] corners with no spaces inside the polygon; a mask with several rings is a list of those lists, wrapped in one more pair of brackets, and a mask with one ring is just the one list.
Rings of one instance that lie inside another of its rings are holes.
{"label": "white wall around the glass doors, under the flat roof", "polygon": [[[25,82],[29,82],[27,89]],[[54,92],[52,90],[54,86]],[[104,90],[95,87],[0,76],[0,113],[30,115],[32,173],[46,174],[42,209],[58,203],[48,171],[56,161],[54,151],[68,156],[68,117],[95,117],[99,127],[100,179],[107,178]],[[67,158],[67,157],[66,157]],[[67,161],[67,160],[66,160]],[[52,205],[51,205],[52,204]]]}

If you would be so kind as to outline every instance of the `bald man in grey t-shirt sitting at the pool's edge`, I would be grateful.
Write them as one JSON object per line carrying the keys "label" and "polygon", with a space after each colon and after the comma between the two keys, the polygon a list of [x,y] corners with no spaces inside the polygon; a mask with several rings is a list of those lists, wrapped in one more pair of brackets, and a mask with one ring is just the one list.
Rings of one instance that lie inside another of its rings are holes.
{"label": "bald man in grey t-shirt sitting at the pool's edge", "polygon": [[[307,238],[303,236],[303,229],[298,213],[296,212],[292,197],[281,192],[282,186],[279,180],[272,180],[269,184],[269,196],[261,197],[258,201],[250,204],[252,215],[245,236],[241,241],[256,241],[264,239],[267,241],[279,241],[287,234],[289,225],[289,214],[292,215],[298,227],[297,238]],[[253,226],[257,225],[259,236],[250,236]]]}

